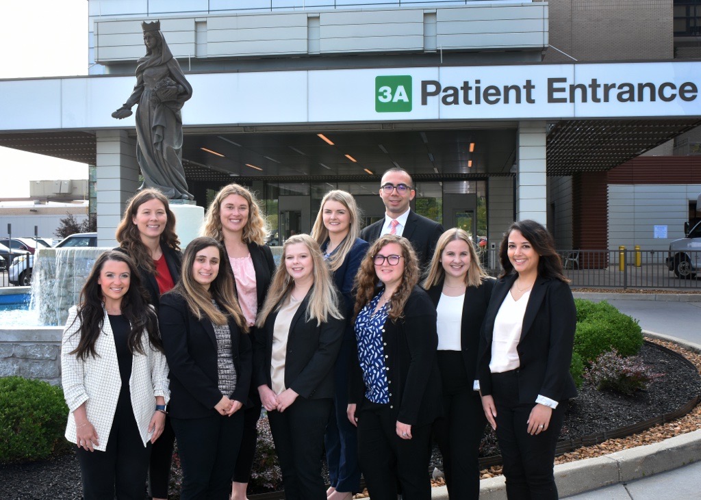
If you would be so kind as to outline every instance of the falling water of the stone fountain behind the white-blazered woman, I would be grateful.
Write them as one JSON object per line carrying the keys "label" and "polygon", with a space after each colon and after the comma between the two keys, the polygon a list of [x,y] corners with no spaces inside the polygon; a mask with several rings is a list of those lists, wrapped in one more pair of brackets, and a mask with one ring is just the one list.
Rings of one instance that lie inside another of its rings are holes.
{"label": "falling water of the stone fountain behind the white-blazered woman", "polygon": [[62,325],[68,310],[78,303],[81,289],[97,256],[107,249],[40,249],[32,271],[30,308],[39,312],[43,325]]}

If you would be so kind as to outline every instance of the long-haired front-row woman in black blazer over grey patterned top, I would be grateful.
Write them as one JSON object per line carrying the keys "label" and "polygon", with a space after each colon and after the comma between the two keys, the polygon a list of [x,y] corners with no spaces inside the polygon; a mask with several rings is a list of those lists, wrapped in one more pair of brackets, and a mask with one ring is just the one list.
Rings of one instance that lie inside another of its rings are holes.
{"label": "long-haired front-row woman in black blazer over grey patterned top", "polygon": [[180,498],[227,500],[243,433],[252,351],[224,247],[198,237],[183,273],[161,297],[158,320],[170,366],[170,420],[184,474]]}

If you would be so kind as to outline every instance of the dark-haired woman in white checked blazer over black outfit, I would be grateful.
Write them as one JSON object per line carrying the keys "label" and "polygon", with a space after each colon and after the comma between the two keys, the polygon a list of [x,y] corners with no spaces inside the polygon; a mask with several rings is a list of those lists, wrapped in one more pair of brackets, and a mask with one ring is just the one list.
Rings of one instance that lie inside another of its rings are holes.
{"label": "dark-haired woman in white checked blazer over black outfit", "polygon": [[83,498],[143,499],[151,443],[163,431],[168,365],[131,258],[101,254],[69,312],[61,347]]}

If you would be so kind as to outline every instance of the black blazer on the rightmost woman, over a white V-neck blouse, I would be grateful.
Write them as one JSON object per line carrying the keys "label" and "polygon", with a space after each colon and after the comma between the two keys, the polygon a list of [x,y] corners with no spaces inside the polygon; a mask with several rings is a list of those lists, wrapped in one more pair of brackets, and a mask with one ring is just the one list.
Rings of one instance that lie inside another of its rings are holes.
{"label": "black blazer on the rightmost woman, over a white V-neck blouse", "polygon": [[[482,324],[479,344],[479,389],[491,394],[491,342],[494,320],[517,275],[498,279]],[[526,305],[519,354],[519,403],[535,403],[538,395],[558,403],[577,395],[569,373],[577,311],[568,284],[538,277]]]}

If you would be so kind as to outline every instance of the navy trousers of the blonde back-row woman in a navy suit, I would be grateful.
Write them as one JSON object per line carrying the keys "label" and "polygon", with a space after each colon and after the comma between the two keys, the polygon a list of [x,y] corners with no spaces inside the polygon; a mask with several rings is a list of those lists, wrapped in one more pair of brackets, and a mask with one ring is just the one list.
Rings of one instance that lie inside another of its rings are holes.
{"label": "navy trousers of the blonde back-row woman in a navy suit", "polygon": [[341,352],[334,366],[334,409],[326,427],[326,462],[329,482],[339,492],[360,491],[358,464],[358,429],[348,421],[348,370],[355,335],[343,338]]}

